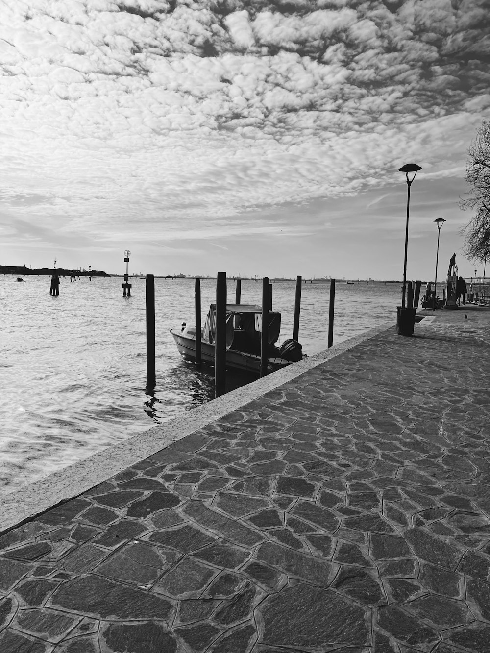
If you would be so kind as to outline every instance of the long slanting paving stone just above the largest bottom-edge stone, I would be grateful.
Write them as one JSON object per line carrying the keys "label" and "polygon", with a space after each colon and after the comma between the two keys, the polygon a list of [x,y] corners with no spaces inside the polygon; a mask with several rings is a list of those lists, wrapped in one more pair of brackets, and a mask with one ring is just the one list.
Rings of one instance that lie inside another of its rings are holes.
{"label": "long slanting paving stone just above the largest bottom-edge stone", "polygon": [[327,587],[333,576],[333,565],[325,560],[272,542],[266,542],[259,547],[257,560],[322,587]]}

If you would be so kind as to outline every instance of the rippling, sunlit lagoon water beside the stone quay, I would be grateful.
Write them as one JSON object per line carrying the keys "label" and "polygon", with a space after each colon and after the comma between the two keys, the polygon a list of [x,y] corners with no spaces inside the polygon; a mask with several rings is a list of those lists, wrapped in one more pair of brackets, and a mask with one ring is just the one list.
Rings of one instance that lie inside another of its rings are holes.
{"label": "rippling, sunlit lagoon water beside the stone quay", "polygon": [[[10,492],[103,447],[176,417],[214,396],[213,377],[182,360],[169,330],[194,322],[194,280],[155,279],[157,386],[145,390],[144,279],[0,277],[0,492]],[[204,316],[216,280],[201,279]],[[261,281],[242,280],[242,303],[260,304]],[[273,283],[282,313],[280,341],[291,338],[295,281]],[[228,282],[235,301],[235,281]],[[400,285],[337,281],[334,344],[395,321]],[[327,347],[329,283],[303,283],[303,351]],[[245,381],[252,379],[247,378]],[[231,387],[243,383],[233,377]]]}

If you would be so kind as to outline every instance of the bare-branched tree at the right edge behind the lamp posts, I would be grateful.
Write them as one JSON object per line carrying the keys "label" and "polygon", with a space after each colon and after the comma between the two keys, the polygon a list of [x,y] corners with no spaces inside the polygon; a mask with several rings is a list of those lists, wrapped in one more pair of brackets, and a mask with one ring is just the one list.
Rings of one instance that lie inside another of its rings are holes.
{"label": "bare-branched tree at the right edge behind the lamp posts", "polygon": [[467,199],[461,200],[463,210],[476,214],[463,228],[465,256],[474,261],[486,261],[490,255],[490,120],[484,119],[476,138],[468,148],[465,180],[470,185]]}

